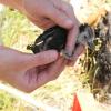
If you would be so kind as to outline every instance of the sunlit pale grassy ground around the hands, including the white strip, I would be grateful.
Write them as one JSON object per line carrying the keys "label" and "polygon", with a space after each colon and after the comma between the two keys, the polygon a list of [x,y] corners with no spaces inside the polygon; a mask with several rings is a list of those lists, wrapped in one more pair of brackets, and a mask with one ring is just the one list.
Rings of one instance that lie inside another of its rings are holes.
{"label": "sunlit pale grassy ground around the hands, including the white strip", "polygon": [[[92,10],[84,8],[80,11],[78,4],[85,7],[88,3],[87,0],[79,1],[80,3],[72,0],[71,3],[77,6],[74,7],[75,14],[78,19],[83,22],[87,16],[93,10],[95,11],[97,8],[91,6]],[[100,1],[103,2],[103,0],[93,0],[93,3],[99,2],[98,6],[101,6]],[[108,2],[111,1],[109,0]],[[4,9],[0,12],[0,21],[3,21],[3,26],[2,22],[0,23],[0,40],[2,43],[21,51],[28,52],[26,46],[34,41],[36,37],[41,32],[40,29],[31,24],[22,14],[17,11],[10,11],[9,9]],[[73,68],[65,68],[57,80],[37,89],[31,94],[14,91],[13,88],[7,83],[2,85],[1,82],[0,111],[54,111],[56,109],[58,109],[57,111],[71,111],[74,93],[78,93],[83,111],[111,111],[109,104],[100,104],[93,100],[89,91],[89,84],[85,84],[85,88],[83,88],[78,78],[80,71],[80,64],[77,62],[77,65]]]}

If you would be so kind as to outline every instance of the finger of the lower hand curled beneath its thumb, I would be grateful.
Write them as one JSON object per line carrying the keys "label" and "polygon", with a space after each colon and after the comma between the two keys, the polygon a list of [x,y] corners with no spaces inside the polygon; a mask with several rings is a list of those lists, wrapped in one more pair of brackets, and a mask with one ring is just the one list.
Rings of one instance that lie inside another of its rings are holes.
{"label": "finger of the lower hand curled beneath its thumb", "polygon": [[54,80],[63,71],[67,61],[61,58],[57,62],[52,63],[49,69],[42,71],[38,75],[37,88],[46,84],[47,82]]}

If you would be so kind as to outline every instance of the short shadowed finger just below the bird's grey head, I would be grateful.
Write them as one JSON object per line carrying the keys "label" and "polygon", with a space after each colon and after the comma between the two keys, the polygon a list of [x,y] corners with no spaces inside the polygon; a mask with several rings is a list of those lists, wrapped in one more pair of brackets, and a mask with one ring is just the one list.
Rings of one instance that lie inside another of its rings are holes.
{"label": "short shadowed finger just below the bird's grey head", "polygon": [[85,49],[84,46],[80,44],[74,51],[72,61],[68,62],[68,65],[70,65],[70,67],[74,65],[74,63],[78,60],[78,58],[80,57],[80,54],[84,52],[84,49]]}

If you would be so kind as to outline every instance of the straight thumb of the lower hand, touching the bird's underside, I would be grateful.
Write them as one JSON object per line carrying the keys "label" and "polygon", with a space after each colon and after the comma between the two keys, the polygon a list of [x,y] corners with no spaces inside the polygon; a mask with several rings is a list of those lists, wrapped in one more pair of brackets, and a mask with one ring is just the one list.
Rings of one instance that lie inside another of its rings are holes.
{"label": "straight thumb of the lower hand, touching the bird's underside", "polygon": [[31,69],[39,65],[51,63],[58,59],[58,52],[54,50],[43,51],[37,54],[27,54],[24,67]]}

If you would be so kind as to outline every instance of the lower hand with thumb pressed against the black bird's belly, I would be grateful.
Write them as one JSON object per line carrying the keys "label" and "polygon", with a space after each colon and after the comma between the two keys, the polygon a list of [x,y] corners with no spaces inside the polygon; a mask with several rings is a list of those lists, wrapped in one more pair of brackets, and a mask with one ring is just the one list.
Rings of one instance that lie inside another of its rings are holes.
{"label": "lower hand with thumb pressed against the black bird's belly", "polygon": [[65,63],[54,50],[27,54],[0,47],[0,79],[26,92],[57,79]]}

